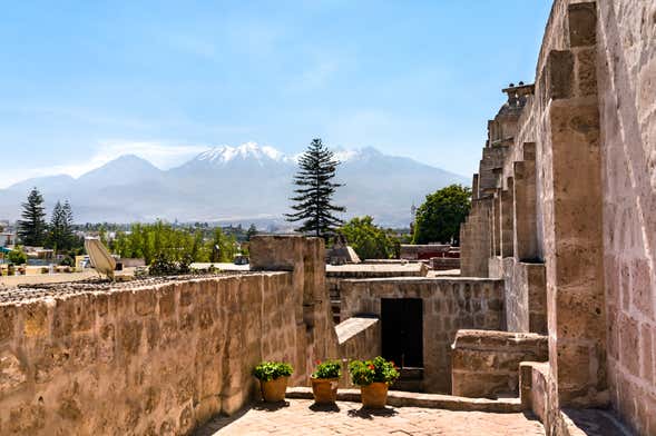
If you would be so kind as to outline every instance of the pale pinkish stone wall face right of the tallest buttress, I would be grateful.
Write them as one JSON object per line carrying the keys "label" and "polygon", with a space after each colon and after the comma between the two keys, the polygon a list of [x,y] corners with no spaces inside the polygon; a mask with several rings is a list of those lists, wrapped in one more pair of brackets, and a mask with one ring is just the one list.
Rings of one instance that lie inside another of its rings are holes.
{"label": "pale pinkish stone wall face right of the tallest buttress", "polygon": [[598,2],[611,399],[656,434],[656,1]]}

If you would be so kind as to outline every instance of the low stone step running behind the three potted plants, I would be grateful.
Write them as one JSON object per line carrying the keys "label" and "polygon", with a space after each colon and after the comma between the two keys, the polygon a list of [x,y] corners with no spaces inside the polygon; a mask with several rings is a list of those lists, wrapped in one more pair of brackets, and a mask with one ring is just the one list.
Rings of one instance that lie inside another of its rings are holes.
{"label": "low stone step running behind the three potted plants", "polygon": [[[312,388],[290,387],[285,395],[287,398],[312,399]],[[360,403],[360,389],[340,389],[337,400]],[[441,394],[415,394],[401,390],[390,390],[388,405],[393,407],[423,407],[440,408],[459,412],[491,412],[510,414],[521,412],[519,398],[486,399],[464,398]]]}

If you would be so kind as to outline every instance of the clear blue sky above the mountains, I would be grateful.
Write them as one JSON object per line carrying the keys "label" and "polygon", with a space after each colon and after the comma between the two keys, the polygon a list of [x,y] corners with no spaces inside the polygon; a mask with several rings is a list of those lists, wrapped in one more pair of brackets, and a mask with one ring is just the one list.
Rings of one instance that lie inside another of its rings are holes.
{"label": "clear blue sky above the mountains", "polygon": [[0,187],[125,152],[312,138],[470,176],[549,0],[16,1],[0,13]]}

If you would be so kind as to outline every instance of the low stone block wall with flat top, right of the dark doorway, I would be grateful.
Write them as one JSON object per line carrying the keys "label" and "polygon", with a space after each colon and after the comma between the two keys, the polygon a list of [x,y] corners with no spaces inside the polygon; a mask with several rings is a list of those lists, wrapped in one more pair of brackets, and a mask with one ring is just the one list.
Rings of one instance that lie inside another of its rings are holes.
{"label": "low stone block wall with flat top, right of the dark doorway", "polygon": [[519,364],[548,359],[546,336],[460,330],[451,356],[452,394],[472,398],[496,398],[499,394],[518,396]]}

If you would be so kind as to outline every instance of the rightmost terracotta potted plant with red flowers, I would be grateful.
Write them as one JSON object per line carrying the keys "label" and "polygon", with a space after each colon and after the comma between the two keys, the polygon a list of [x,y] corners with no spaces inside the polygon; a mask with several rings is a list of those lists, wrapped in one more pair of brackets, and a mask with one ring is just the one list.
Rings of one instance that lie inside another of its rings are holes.
{"label": "rightmost terracotta potted plant with red flowers", "polygon": [[360,386],[362,405],[368,408],[383,408],[388,403],[388,387],[399,378],[393,361],[382,357],[373,360],[353,360],[349,373],[354,385]]}

